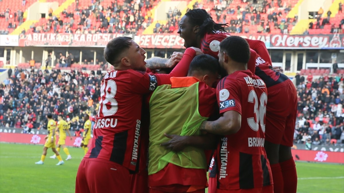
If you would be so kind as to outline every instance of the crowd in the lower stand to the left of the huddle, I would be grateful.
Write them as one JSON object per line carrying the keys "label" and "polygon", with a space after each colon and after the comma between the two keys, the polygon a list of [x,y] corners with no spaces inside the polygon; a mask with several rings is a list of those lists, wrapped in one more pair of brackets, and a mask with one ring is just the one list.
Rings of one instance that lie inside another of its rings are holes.
{"label": "crowd in the lower stand to the left of the huddle", "polygon": [[[96,115],[101,71],[19,70],[0,84],[0,126],[46,129],[45,115],[62,114],[71,130],[83,127],[85,113]],[[92,117],[90,116],[90,117]],[[93,118],[91,119],[92,121]]]}

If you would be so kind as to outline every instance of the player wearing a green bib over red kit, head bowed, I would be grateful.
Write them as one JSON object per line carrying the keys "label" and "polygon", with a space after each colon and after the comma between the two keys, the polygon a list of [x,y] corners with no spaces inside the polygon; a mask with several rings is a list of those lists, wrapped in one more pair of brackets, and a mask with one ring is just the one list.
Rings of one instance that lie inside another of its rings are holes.
{"label": "player wearing a green bib over red kit, head bowed", "polygon": [[201,123],[216,110],[216,93],[211,86],[217,80],[218,66],[218,60],[212,56],[196,56],[187,77],[172,77],[171,85],[159,86],[152,93],[149,101],[150,193],[204,193],[208,161],[204,150],[187,147],[174,152],[163,147],[169,138],[162,133],[169,134],[166,136],[201,135]]}

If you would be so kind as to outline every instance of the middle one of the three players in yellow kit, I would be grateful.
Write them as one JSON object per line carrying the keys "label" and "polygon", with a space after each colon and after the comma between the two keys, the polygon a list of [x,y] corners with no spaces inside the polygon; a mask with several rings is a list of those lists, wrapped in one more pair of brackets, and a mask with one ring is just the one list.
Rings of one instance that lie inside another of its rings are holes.
{"label": "middle one of the three players in yellow kit", "polygon": [[[60,148],[62,146],[63,148],[63,151],[67,154],[67,159],[66,160],[69,160],[69,159],[72,159],[72,156],[69,154],[69,151],[68,151],[68,148],[66,147],[66,132],[68,133],[68,136],[71,140],[73,140],[72,136],[71,136],[71,133],[69,133],[69,126],[68,126],[68,123],[63,120],[63,117],[62,115],[58,115],[57,116],[57,129],[58,129],[58,132],[60,133],[60,137],[58,138],[58,147],[56,148],[56,150],[58,152],[60,152]],[[50,158],[53,158],[55,159],[56,158],[56,154],[54,154],[53,156],[50,156]]]}

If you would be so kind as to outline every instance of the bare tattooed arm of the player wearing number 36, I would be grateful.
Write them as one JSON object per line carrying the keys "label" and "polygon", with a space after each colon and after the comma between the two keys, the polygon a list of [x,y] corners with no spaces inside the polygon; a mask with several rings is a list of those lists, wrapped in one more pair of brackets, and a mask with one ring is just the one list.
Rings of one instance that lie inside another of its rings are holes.
{"label": "bare tattooed arm of the player wearing number 36", "polygon": [[216,121],[204,121],[201,130],[217,135],[235,134],[241,127],[241,115],[236,111],[226,111]]}

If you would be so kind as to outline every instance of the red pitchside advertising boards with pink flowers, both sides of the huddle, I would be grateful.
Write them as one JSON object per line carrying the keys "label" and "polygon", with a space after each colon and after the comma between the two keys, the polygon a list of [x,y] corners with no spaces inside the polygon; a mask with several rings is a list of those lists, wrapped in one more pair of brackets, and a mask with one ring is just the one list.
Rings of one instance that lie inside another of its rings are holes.
{"label": "red pitchside advertising boards with pink flowers, both sides of the huddle", "polygon": [[[0,142],[44,145],[45,136],[45,129],[32,129],[31,133],[25,134],[23,133],[23,129],[0,128]],[[79,147],[82,137],[72,138],[73,139],[70,140],[67,136],[66,145]],[[57,141],[58,136],[56,137],[56,143]],[[90,139],[89,144],[91,142],[92,138]],[[291,151],[295,160],[344,164],[344,145],[312,145],[312,150],[305,150],[304,144],[296,144]]]}

